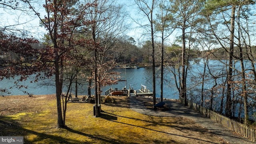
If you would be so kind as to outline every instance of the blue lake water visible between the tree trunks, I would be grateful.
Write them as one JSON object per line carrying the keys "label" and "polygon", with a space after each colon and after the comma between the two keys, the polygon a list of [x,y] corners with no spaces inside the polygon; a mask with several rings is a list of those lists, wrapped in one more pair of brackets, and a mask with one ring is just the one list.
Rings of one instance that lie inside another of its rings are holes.
{"label": "blue lake water visible between the tree trunks", "polygon": [[[218,76],[221,75],[223,72],[226,72],[226,62],[220,62],[218,60],[210,60],[209,67],[211,68],[211,73]],[[245,61],[245,67],[250,68],[250,63]],[[240,69],[240,64],[236,64],[236,68]],[[172,68],[170,68],[172,69]],[[129,88],[131,86],[134,90],[139,90],[141,85],[147,86],[148,89],[152,90],[152,68],[139,68],[139,69],[114,69],[117,72],[120,72],[120,76],[122,77],[122,82],[118,82],[116,85],[106,86],[103,87],[102,95],[105,94],[105,91],[109,88],[118,88],[122,89],[124,87]],[[172,69],[173,70],[173,69]],[[190,61],[190,67],[188,68],[188,77],[187,77],[187,90],[188,90],[188,99],[193,99],[194,102],[200,103],[200,92],[201,86],[200,83],[202,81],[202,73],[204,70],[203,61],[200,60],[198,63],[194,64],[194,61]],[[19,79],[19,77],[15,78]],[[219,77],[217,79],[218,84],[222,84],[224,82],[225,77]],[[19,85],[27,85],[28,88],[16,88],[14,86],[13,79],[4,79],[0,81],[0,88],[6,88],[10,94],[6,94],[4,92],[0,92],[0,95],[24,95],[24,91],[34,95],[40,94],[55,94],[56,89],[54,85],[54,78],[40,80],[37,83],[30,83],[33,81],[33,78],[26,80],[25,82],[19,82]],[[205,83],[204,83],[204,101],[209,101],[210,89],[214,85],[214,80],[211,78],[209,71],[206,72],[205,76]],[[10,88],[12,87],[12,88]],[[88,82],[82,81],[81,84],[78,86],[78,94],[79,95],[87,95],[88,94]],[[221,88],[222,89],[222,88]],[[220,89],[220,92],[221,92]],[[72,94],[75,94],[75,88],[72,88]],[[66,88],[64,86],[63,92],[66,92]],[[95,90],[91,90],[92,94],[95,94]],[[178,99],[179,93],[175,85],[175,78],[174,75],[170,72],[169,69],[164,69],[164,86],[163,86],[163,96],[164,98],[168,99]],[[220,100],[221,100],[221,93],[218,96],[214,97],[214,108],[218,111]],[[156,97],[160,98],[160,68],[156,67]],[[225,100],[224,100],[225,101]],[[225,103],[225,102],[224,102]],[[209,102],[208,102],[209,106]],[[235,112],[238,113],[239,104],[236,104]],[[250,114],[256,112],[254,108],[249,108]],[[237,114],[235,114],[237,115]]]}

